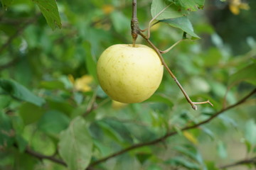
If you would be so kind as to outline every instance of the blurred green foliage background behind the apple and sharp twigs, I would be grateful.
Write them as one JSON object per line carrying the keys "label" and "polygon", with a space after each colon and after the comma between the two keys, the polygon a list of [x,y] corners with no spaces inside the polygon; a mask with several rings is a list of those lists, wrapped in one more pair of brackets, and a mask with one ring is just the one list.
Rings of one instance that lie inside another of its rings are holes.
{"label": "blurred green foliage background behind the apple and sharp twigs", "polygon": [[[108,159],[97,169],[215,170],[255,157],[255,97],[200,128],[180,129],[255,89],[256,1],[206,0],[189,16],[201,39],[185,40],[164,55],[193,101],[214,104],[198,111],[167,72],[143,103],[117,103],[100,89],[95,67],[101,52],[132,43],[131,1],[60,0],[61,25],[51,26],[35,3],[14,0],[0,7],[0,169],[67,169],[31,150],[67,163],[85,158],[87,165],[169,130],[178,135]],[[142,29],[151,20],[150,9],[150,0],[138,1]],[[165,23],[151,28],[151,41],[161,50],[181,38],[181,30]],[[146,44],[142,38],[137,43]],[[73,150],[68,143],[76,137],[80,149]]]}

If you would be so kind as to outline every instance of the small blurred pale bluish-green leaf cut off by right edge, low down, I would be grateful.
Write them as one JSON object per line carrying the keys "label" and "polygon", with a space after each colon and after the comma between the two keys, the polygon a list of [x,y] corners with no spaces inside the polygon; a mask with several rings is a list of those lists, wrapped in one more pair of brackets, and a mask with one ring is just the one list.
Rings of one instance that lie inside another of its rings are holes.
{"label": "small blurred pale bluish-green leaf cut off by right edge, low down", "polygon": [[251,145],[256,145],[256,123],[253,119],[248,120],[245,124],[245,139]]}

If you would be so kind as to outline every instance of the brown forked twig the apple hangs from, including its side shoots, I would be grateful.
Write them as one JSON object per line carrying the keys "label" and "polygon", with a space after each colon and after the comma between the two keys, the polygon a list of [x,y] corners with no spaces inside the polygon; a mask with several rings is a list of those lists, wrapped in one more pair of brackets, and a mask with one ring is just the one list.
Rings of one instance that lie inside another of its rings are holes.
{"label": "brown forked twig the apple hangs from, including its side shoots", "polygon": [[[171,5],[171,4],[170,4]],[[169,6],[170,6],[169,5]],[[168,8],[169,6],[166,6],[166,8]],[[191,104],[191,107],[194,110],[197,110],[197,106],[196,105],[200,105],[200,104],[210,104],[210,106],[213,106],[212,103],[210,103],[210,101],[202,101],[202,102],[193,102],[191,101],[191,98],[188,96],[188,94],[186,94],[186,91],[183,89],[183,87],[181,86],[181,84],[179,83],[178,79],[175,77],[174,73],[171,72],[171,69],[169,69],[168,65],[166,64],[166,62],[164,61],[164,57],[161,54],[164,54],[166,52],[169,52],[171,49],[173,49],[176,45],[178,45],[178,43],[180,43],[182,40],[185,40],[186,38],[182,38],[181,40],[178,40],[178,42],[174,43],[174,45],[171,45],[171,47],[169,47],[167,50],[161,51],[159,50],[154,44],[153,42],[151,42],[151,40],[149,40],[150,38],[150,27],[151,27],[151,23],[154,21],[155,18],[157,18],[157,16],[159,16],[161,13],[164,12],[164,10],[166,10],[166,8],[164,8],[162,11],[160,11],[158,14],[156,14],[156,16],[154,16],[154,18],[151,19],[151,21],[149,21],[149,27],[146,28],[146,30],[148,30],[148,35],[144,35],[142,32],[144,32],[145,30],[141,30],[139,28],[139,21],[137,18],[137,0],[132,0],[132,21],[131,21],[131,28],[132,28],[132,46],[135,47],[135,42],[137,40],[138,35],[141,35],[142,38],[144,38],[144,40],[146,40],[146,42],[149,43],[149,45],[151,45],[151,47],[156,51],[157,55],[159,55],[159,58],[161,60],[161,63],[164,65],[164,67],[166,68],[167,72],[171,75],[171,77],[174,79],[174,81],[176,82],[176,84],[178,85],[179,89],[181,89],[183,95],[185,96],[186,100],[188,101],[188,103]]]}

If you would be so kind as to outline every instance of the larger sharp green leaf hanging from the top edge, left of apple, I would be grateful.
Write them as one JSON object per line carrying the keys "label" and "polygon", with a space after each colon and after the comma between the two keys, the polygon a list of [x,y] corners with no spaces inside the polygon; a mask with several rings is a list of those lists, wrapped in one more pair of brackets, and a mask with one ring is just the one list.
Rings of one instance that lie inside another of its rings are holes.
{"label": "larger sharp green leaf hanging from the top edge, left of apple", "polygon": [[60,14],[58,13],[58,6],[55,0],[32,0],[40,8],[41,13],[46,18],[50,28],[53,30],[55,26],[61,28]]}

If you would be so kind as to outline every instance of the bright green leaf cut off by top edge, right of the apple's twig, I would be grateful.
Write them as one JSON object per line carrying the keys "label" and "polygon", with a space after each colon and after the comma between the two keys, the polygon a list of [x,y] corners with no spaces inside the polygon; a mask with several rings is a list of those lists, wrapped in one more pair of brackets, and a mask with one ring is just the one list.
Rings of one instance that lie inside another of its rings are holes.
{"label": "bright green leaf cut off by top edge, right of the apple's twig", "polygon": [[197,11],[202,9],[204,6],[205,0],[172,0],[176,6],[180,6],[188,11]]}

